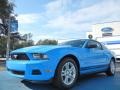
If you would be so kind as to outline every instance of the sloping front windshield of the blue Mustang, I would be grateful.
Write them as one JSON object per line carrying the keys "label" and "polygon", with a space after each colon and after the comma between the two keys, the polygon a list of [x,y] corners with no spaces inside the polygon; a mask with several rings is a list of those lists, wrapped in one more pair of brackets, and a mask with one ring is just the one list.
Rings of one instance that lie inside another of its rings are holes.
{"label": "sloping front windshield of the blue Mustang", "polygon": [[82,47],[85,43],[85,40],[72,40],[60,43],[59,45],[71,45],[73,47]]}

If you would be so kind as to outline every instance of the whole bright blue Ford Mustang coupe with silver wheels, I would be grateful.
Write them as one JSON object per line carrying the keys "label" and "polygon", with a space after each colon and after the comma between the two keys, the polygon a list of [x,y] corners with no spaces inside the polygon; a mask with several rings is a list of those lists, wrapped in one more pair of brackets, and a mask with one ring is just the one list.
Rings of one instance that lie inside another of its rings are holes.
{"label": "whole bright blue Ford Mustang coupe with silver wheels", "polygon": [[70,88],[79,75],[105,72],[115,74],[115,57],[104,45],[80,39],[60,45],[32,46],[12,51],[8,71],[25,80],[48,81]]}

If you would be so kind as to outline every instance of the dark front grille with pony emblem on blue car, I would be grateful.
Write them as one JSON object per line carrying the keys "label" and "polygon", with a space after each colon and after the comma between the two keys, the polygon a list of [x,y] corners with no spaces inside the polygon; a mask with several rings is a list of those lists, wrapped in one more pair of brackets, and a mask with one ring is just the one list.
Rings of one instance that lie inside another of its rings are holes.
{"label": "dark front grille with pony emblem on blue car", "polygon": [[25,53],[14,53],[11,54],[12,60],[29,60],[29,57]]}

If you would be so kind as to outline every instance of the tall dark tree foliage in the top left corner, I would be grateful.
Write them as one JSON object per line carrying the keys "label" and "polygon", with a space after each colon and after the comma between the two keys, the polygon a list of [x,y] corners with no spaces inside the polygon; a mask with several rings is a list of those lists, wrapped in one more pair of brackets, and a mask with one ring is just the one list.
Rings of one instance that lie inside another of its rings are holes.
{"label": "tall dark tree foliage in the top left corner", "polygon": [[8,32],[7,20],[14,11],[14,3],[10,0],[0,0],[0,19],[2,23],[0,25],[0,31],[4,34]]}

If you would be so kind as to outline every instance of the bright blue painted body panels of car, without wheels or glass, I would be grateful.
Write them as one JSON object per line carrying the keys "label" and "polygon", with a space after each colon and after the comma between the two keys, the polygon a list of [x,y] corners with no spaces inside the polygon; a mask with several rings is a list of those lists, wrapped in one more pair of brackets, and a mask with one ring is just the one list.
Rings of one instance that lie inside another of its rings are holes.
{"label": "bright blue painted body panels of car, without wheels or glass", "polygon": [[[72,47],[70,45],[41,45],[17,49],[13,53],[26,53],[30,60],[7,60],[8,70],[25,71],[25,75],[13,76],[27,80],[50,80],[54,77],[55,71],[60,60],[67,56],[73,55],[78,60],[80,74],[105,71],[108,68],[110,60],[114,57],[108,49],[103,51],[85,48],[89,40],[86,39],[83,47]],[[48,55],[46,60],[35,60],[32,53],[44,53]],[[40,75],[32,75],[32,70],[40,70]]]}

